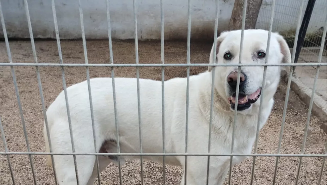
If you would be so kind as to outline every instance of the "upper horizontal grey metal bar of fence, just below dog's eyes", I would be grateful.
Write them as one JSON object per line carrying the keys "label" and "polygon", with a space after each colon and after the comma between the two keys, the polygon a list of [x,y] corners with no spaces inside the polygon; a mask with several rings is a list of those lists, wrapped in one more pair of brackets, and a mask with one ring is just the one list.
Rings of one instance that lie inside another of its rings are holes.
{"label": "upper horizontal grey metal bar of fence, just below dog's eyes", "polygon": [[51,67],[218,67],[218,66],[327,66],[327,63],[280,63],[280,64],[243,64],[243,63],[181,63],[181,64],[67,64],[67,63],[0,63],[0,66],[51,66]]}

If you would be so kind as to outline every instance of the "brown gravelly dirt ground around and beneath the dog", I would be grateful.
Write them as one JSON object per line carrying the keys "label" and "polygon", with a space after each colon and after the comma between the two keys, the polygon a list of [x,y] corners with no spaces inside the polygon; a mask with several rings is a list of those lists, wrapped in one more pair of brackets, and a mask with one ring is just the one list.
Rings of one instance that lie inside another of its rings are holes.
{"label": "brown gravelly dirt ground around and beneath the dog", "polygon": [[[37,41],[37,57],[40,63],[59,63],[57,44],[55,41]],[[84,63],[83,46],[81,41],[62,41],[62,54],[64,63]],[[108,63],[109,47],[108,41],[88,41],[89,63]],[[34,62],[30,42],[12,41],[10,49],[13,62]],[[192,43],[191,63],[206,63],[209,61],[211,44]],[[1,62],[7,62],[7,50],[4,42],[0,43]],[[134,42],[113,42],[113,58],[115,63],[134,63]],[[139,42],[140,63],[160,63],[160,42]],[[185,63],[186,42],[165,42],[165,62]],[[191,68],[190,74],[198,74],[207,68]],[[48,107],[56,96],[63,90],[61,70],[59,67],[40,67],[41,79],[45,104]],[[91,77],[110,76],[110,68],[90,68]],[[135,77],[135,68],[116,68],[115,76]],[[43,113],[40,94],[34,67],[15,67],[17,83],[23,106],[23,114],[27,127],[28,140],[31,151],[43,152]],[[84,67],[65,67],[67,86],[84,81],[86,72]],[[167,67],[165,79],[186,76],[184,67]],[[161,80],[161,68],[147,67],[140,69],[141,78]],[[105,84],[104,84],[105,85]],[[284,98],[286,84],[280,83],[275,95],[275,105],[267,121],[266,126],[260,131],[258,153],[277,153],[278,139],[284,109]],[[304,127],[306,123],[307,107],[294,93],[290,93],[281,153],[293,154],[301,152]],[[4,126],[6,141],[9,151],[27,151],[24,138],[21,117],[14,92],[14,85],[10,67],[0,67],[0,116]],[[312,115],[310,119],[310,134],[306,141],[306,154],[323,154],[325,152],[326,134],[322,132],[317,123],[319,120]],[[4,151],[1,140],[0,150]],[[45,156],[33,155],[34,168],[37,184],[54,184],[52,169],[45,166]],[[254,184],[271,184],[274,175],[275,157],[257,157],[255,163]],[[298,184],[317,184],[322,165],[322,158],[303,158],[301,174]],[[232,184],[249,184],[251,179],[252,158],[232,168]],[[33,184],[33,177],[28,156],[11,155],[10,162],[13,167],[16,184]],[[280,158],[277,181],[278,185],[290,185],[295,183],[298,157]],[[327,184],[327,167],[323,172],[321,184]],[[144,161],[144,182],[149,185],[162,184],[163,167],[161,164]],[[166,167],[166,184],[178,185],[181,180],[182,171],[178,167]],[[122,167],[122,180],[124,185],[140,184],[140,161],[128,161]],[[227,181],[228,179],[226,179]],[[110,165],[101,174],[102,184],[119,184],[118,168]],[[0,156],[0,184],[12,184],[6,156]]]}

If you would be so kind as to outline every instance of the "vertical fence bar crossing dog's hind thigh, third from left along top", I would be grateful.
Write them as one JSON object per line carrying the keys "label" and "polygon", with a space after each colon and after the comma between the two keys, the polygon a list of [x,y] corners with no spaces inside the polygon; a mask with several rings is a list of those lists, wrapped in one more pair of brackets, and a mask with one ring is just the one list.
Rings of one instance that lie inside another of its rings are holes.
{"label": "vertical fence bar crossing dog's hind thigh, third from left along top", "polygon": [[[56,15],[56,7],[54,0],[51,0],[51,6],[52,6],[52,14],[53,14],[53,22],[55,24],[55,32],[56,32],[56,40],[57,40],[57,46],[58,46],[58,54],[59,54],[59,60],[60,64],[63,63],[62,60],[62,53],[61,53],[61,46],[60,46],[60,37],[59,37],[59,29],[58,29],[58,22],[57,22],[57,15]],[[70,118],[70,111],[69,111],[69,104],[68,104],[68,96],[67,96],[67,86],[66,86],[66,79],[65,79],[65,71],[63,66],[61,67],[61,76],[62,76],[62,86],[63,91],[65,95],[65,103],[66,103],[66,110],[67,110],[67,119],[68,119],[68,126],[69,126],[69,134],[72,144],[72,152],[75,153],[75,144],[74,144],[74,137],[73,137],[73,131],[72,131],[72,122]],[[76,174],[76,182],[77,185],[79,185],[78,180],[78,171],[77,171],[77,162],[76,162],[76,155],[73,155],[74,160],[74,167],[75,167],[75,174]]]}

